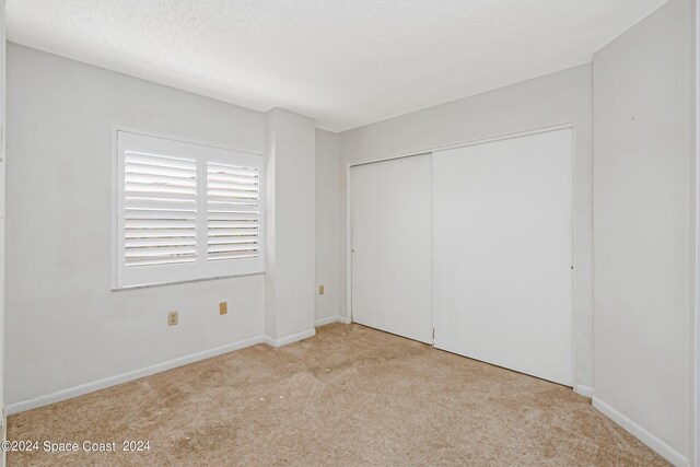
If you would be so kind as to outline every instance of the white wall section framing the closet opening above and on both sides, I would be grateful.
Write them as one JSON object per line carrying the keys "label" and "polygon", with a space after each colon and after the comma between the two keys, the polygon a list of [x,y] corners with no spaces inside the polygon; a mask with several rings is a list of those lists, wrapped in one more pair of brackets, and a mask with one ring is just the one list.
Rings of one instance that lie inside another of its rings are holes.
{"label": "white wall section framing the closet opening above and on both sides", "polygon": [[347,172],[349,163],[521,132],[574,125],[575,382],[588,393],[592,369],[592,89],[584,65],[340,133],[338,313],[348,315]]}

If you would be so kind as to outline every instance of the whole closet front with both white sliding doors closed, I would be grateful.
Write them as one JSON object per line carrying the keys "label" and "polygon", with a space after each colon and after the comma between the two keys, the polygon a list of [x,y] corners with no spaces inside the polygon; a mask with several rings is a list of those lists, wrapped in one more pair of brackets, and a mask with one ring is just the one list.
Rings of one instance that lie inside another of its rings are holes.
{"label": "whole closet front with both white sliding doors closed", "polygon": [[573,130],[352,166],[353,320],[573,385]]}

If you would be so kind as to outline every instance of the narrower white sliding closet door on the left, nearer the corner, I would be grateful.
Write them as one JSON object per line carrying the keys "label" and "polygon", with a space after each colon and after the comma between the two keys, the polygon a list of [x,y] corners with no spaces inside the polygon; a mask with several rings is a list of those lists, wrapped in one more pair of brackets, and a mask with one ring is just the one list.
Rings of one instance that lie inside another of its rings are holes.
{"label": "narrower white sliding closet door on the left, nearer the corner", "polygon": [[430,154],[350,168],[352,320],[430,342]]}

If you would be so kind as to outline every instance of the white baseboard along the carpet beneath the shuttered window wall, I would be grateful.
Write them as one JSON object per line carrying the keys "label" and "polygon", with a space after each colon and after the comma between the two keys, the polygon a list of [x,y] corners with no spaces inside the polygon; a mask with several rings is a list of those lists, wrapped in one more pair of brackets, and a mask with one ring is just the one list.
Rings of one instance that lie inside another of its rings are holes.
{"label": "white baseboard along the carpet beneath the shuttered window wall", "polygon": [[94,381],[92,383],[69,387],[68,389],[57,390],[56,393],[50,393],[34,399],[10,404],[8,406],[8,415],[11,416],[23,412],[25,410],[32,410],[38,407],[48,406],[49,404],[72,399],[73,397],[82,396],[84,394],[93,393],[95,390],[104,389],[110,386],[116,386],[118,384],[127,383],[129,381],[138,380],[144,376],[150,376],[156,373],[186,365],[188,363],[198,362],[200,360],[210,359],[223,353],[233,352],[234,350],[240,350],[246,347],[255,346],[257,343],[262,343],[266,341],[266,339],[267,338],[264,336],[253,337],[250,339],[245,339],[234,343],[228,343],[225,346],[217,347],[215,349],[205,350],[202,352],[192,353],[186,357],[179,357],[177,359],[168,360],[162,363],[156,363],[154,365],[145,366],[140,370],[121,373],[115,376],[108,376],[103,380]]}

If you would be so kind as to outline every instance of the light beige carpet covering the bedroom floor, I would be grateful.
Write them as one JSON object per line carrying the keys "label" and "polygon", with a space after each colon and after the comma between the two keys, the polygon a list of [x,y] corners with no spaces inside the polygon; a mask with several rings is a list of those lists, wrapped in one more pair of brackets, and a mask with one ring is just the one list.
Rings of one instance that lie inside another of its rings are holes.
{"label": "light beige carpet covering the bedroom floor", "polygon": [[148,453],[10,453],[12,466],[665,465],[552,383],[358,325],[260,345],[11,417],[11,440]]}

